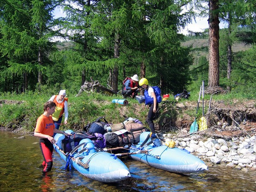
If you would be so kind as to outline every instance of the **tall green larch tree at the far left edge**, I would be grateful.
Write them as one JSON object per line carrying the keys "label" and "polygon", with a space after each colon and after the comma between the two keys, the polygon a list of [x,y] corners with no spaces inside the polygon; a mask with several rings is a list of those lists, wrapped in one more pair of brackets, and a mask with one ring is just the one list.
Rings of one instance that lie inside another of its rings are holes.
{"label": "tall green larch tree at the far left edge", "polygon": [[[4,87],[25,92],[35,66],[35,42],[31,30],[30,1],[4,0],[0,12],[1,79]],[[28,78],[28,75],[30,78]]]}

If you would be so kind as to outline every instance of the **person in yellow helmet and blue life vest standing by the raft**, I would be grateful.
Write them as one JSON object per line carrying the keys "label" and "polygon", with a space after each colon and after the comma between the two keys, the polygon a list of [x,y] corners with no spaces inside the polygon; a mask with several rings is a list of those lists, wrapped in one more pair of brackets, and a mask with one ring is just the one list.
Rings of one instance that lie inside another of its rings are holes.
{"label": "person in yellow helmet and blue life vest standing by the raft", "polygon": [[[161,145],[161,141],[157,139],[156,131],[154,129],[154,116],[157,112],[158,103],[162,101],[161,95],[153,87],[148,86],[148,79],[142,78],[139,81],[140,87],[145,89],[145,105],[149,106],[148,116],[146,122],[151,130],[151,140],[154,140],[154,145],[157,147]],[[159,87],[158,87],[159,89]],[[159,89],[160,90],[160,89]]]}

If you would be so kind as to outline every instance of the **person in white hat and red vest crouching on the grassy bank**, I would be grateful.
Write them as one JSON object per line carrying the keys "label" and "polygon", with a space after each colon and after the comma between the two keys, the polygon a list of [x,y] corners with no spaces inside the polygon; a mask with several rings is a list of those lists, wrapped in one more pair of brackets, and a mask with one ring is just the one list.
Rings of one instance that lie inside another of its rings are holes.
{"label": "person in white hat and red vest crouching on the grassy bank", "polygon": [[135,96],[137,96],[139,92],[138,81],[139,81],[139,77],[137,76],[137,74],[135,74],[131,78],[127,78],[127,80],[124,82],[122,95],[124,96],[125,99],[128,96],[132,96],[132,98],[135,98]]}

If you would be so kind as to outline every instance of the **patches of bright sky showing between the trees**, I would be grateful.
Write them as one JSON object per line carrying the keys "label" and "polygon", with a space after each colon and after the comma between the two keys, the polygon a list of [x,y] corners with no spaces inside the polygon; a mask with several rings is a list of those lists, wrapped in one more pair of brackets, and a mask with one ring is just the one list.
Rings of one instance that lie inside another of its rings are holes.
{"label": "patches of bright sky showing between the trees", "polygon": [[[60,8],[56,8],[54,13],[55,15],[55,18],[58,18],[58,17],[65,17],[65,14],[64,12],[62,11],[62,9]],[[203,32],[204,29],[207,29],[209,28],[209,25],[208,25],[208,21],[207,21],[208,18],[200,18],[200,17],[196,17],[195,20],[193,20],[192,23],[188,24],[185,29],[183,29],[181,31],[181,33],[183,35],[187,35],[188,34],[188,30],[189,31],[192,31],[192,32]],[[224,23],[220,23],[220,29],[223,29],[225,27]]]}

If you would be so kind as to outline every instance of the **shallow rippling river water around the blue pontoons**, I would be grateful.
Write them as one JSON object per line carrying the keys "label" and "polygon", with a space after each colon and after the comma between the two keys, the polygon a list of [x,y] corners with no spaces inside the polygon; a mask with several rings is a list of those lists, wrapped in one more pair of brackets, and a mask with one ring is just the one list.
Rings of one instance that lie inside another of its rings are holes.
{"label": "shallow rippling river water around the blue pontoons", "polygon": [[42,175],[43,157],[38,138],[0,131],[1,192],[255,192],[256,172],[225,169],[216,165],[209,171],[179,175],[122,158],[131,178],[118,183],[101,183],[88,179],[78,171],[64,170],[65,162],[54,151],[53,168]]}

